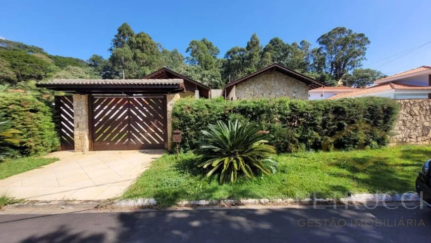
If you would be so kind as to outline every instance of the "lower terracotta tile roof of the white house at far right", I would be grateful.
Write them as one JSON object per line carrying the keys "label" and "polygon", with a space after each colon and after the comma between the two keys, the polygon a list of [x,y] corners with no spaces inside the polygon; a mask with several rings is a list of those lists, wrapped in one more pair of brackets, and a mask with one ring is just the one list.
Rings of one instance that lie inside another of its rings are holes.
{"label": "lower terracotta tile roof of the white house at far right", "polygon": [[353,91],[349,93],[339,94],[332,97],[329,97],[327,99],[336,99],[336,98],[347,98],[347,97],[355,97],[355,96],[362,96],[366,94],[372,94],[377,93],[381,91],[387,91],[387,90],[430,90],[431,86],[421,86],[421,85],[411,85],[411,84],[401,84],[401,83],[383,83],[378,84],[375,86],[370,86],[362,90]]}

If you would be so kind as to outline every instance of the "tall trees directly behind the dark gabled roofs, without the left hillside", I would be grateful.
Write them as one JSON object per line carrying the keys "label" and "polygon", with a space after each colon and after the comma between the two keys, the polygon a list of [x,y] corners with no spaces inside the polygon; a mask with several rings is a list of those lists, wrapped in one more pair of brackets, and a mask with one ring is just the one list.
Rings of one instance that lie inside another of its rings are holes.
{"label": "tall trees directly behind the dark gabled roofs, without the left hillside", "polygon": [[164,49],[148,34],[135,34],[130,25],[124,23],[112,39],[109,62],[100,75],[122,78],[124,70],[126,78],[141,78],[166,66],[212,88],[221,88],[229,81],[276,62],[327,85],[336,85],[346,73],[361,67],[370,45],[365,34],[344,27],[323,34],[317,43],[318,47],[312,47],[306,40],[289,44],[274,37],[264,47],[254,33],[243,47],[228,49],[223,58],[219,58],[220,50],[203,38],[189,43],[185,49],[188,56],[184,58],[177,49]]}

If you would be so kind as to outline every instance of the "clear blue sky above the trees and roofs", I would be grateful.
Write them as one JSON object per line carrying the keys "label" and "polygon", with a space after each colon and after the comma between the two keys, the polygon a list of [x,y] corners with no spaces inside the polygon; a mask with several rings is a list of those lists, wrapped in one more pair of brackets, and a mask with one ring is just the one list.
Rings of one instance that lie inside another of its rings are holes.
{"label": "clear blue sky above the trees and roofs", "polygon": [[[372,62],[431,41],[430,9],[429,0],[14,0],[1,3],[0,36],[56,55],[108,57],[116,28],[127,22],[182,53],[205,37],[222,57],[231,47],[245,47],[253,33],[264,46],[279,37],[316,47],[323,33],[344,26],[370,39],[364,67],[376,68],[402,54]],[[391,75],[422,65],[431,65],[431,44],[377,69]]]}

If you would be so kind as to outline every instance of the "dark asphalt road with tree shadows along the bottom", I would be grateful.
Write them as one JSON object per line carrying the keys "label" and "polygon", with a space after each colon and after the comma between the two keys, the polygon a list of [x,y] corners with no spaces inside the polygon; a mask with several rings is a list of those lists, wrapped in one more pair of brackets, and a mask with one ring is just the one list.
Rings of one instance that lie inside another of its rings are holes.
{"label": "dark asphalt road with tree shadows along the bottom", "polygon": [[0,242],[424,243],[431,242],[431,209],[276,208],[0,215]]}

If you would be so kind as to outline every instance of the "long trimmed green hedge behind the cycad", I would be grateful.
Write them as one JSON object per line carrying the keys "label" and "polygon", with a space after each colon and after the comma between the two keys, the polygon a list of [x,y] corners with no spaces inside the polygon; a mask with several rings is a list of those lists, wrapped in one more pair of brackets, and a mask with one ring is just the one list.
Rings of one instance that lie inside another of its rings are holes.
{"label": "long trimmed green hedge behind the cycad", "polygon": [[201,130],[208,124],[239,119],[269,130],[269,141],[278,152],[320,150],[325,141],[359,121],[370,124],[349,130],[328,148],[348,150],[358,148],[361,141],[372,148],[387,145],[398,110],[395,100],[382,97],[311,101],[284,97],[237,101],[184,98],[175,103],[172,122],[174,129],[182,131],[184,150],[199,145]]}

